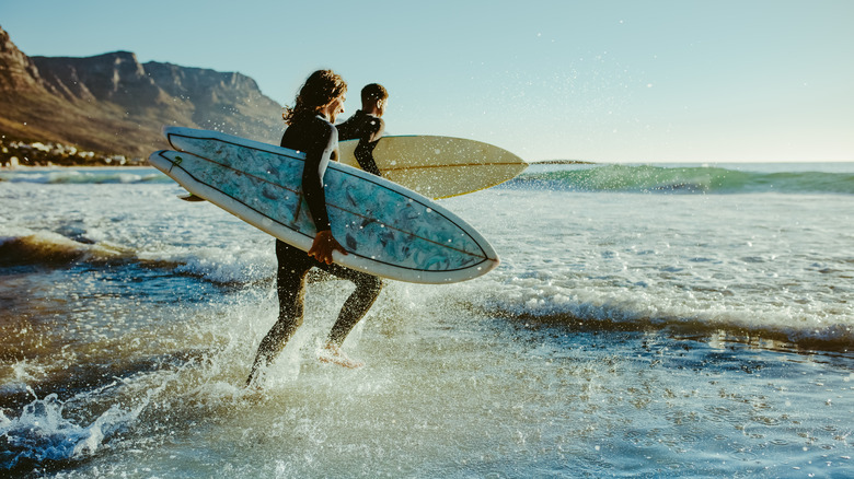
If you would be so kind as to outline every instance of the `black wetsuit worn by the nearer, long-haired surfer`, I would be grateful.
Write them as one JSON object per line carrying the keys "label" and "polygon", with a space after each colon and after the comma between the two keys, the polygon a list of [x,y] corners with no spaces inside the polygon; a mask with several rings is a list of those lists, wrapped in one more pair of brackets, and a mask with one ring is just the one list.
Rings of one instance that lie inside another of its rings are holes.
{"label": "black wetsuit worn by the nearer, long-haired surfer", "polygon": [[[302,190],[319,232],[330,230],[323,175],[330,160],[336,154],[337,138],[335,127],[321,116],[295,121],[281,137],[282,147],[305,153]],[[285,348],[288,339],[302,325],[305,276],[311,268],[320,268],[356,284],[356,290],[344,303],[338,319],[330,331],[328,341],[337,346],[344,342],[347,334],[368,313],[382,288],[382,282],[374,276],[318,261],[305,252],[279,240],[276,240],[276,259],[279,318],[258,346],[249,382],[258,367],[268,364]]]}

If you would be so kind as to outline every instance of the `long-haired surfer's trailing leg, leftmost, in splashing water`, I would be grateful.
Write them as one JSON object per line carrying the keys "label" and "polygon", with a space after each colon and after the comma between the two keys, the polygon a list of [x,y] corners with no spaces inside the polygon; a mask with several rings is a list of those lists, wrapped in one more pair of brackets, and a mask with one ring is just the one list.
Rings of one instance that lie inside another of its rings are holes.
{"label": "long-haired surfer's trailing leg, leftmost, in splashing water", "polygon": [[285,349],[293,332],[302,325],[303,297],[305,293],[305,273],[311,268],[303,258],[304,252],[276,241],[278,271],[276,290],[279,296],[279,317],[261,340],[255,362],[252,364],[246,385],[252,384],[258,370],[266,366]]}

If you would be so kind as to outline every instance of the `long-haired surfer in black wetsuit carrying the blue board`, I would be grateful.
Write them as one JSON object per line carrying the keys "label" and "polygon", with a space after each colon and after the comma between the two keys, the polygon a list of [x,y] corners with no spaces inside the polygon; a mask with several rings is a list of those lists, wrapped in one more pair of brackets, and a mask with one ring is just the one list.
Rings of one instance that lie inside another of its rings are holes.
{"label": "long-haired surfer in black wetsuit carrying the blue board", "polygon": [[276,240],[278,270],[276,289],[279,296],[278,320],[262,339],[252,364],[246,385],[251,385],[258,371],[268,365],[293,332],[302,325],[305,276],[311,268],[320,268],[356,284],[332,327],[321,360],[347,367],[362,363],[347,358],[341,347],[347,334],[368,313],[382,289],[379,278],[332,262],[333,252],[347,252],[333,237],[326,212],[323,175],[326,165],[337,154],[338,132],[333,126],[344,113],[347,83],[332,70],[312,73],[300,89],[295,106],[286,108],[284,118],[288,128],[281,137],[281,145],[305,153],[302,189],[309,212],[316,227],[311,248],[305,252]]}

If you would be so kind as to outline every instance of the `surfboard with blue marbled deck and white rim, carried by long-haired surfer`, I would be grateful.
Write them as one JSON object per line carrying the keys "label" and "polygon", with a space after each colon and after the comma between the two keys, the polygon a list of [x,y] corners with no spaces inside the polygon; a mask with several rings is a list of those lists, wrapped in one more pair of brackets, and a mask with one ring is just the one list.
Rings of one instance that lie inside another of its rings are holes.
{"label": "surfboard with blue marbled deck and white rim, carried by long-haired surfer", "polygon": [[[173,145],[149,162],[191,194],[302,250],[314,222],[300,183],[304,154],[229,135],[166,128]],[[489,243],[435,201],[386,179],[338,163],[324,176],[332,233],[349,253],[335,262],[389,279],[451,283],[498,265]]]}

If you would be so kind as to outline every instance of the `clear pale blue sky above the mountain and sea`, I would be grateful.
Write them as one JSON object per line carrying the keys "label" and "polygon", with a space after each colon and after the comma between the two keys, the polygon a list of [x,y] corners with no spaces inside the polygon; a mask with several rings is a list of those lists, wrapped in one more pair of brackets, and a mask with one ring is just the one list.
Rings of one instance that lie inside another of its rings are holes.
{"label": "clear pale blue sky above the mountain and sea", "polygon": [[252,77],[282,105],[314,70],[390,92],[389,135],[528,161],[854,161],[852,0],[0,0],[28,56],[126,50]]}

